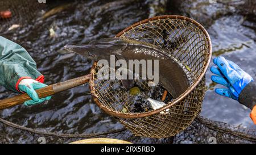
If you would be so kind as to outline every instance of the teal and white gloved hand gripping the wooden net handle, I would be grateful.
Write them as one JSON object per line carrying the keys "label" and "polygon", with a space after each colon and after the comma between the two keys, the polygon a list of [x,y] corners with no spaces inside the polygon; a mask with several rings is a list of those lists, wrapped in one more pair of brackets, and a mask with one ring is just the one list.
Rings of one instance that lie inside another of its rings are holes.
{"label": "teal and white gloved hand gripping the wooden net handle", "polygon": [[35,81],[34,79],[30,79],[30,78],[22,79],[22,81],[19,82],[18,88],[20,91],[27,93],[28,96],[30,96],[30,98],[32,99],[32,100],[27,100],[26,102],[24,102],[24,104],[26,106],[31,106],[35,104],[40,104],[44,102],[44,100],[51,99],[51,96],[39,99],[38,94],[35,91],[36,89],[40,89],[46,86],[47,86],[46,84]]}

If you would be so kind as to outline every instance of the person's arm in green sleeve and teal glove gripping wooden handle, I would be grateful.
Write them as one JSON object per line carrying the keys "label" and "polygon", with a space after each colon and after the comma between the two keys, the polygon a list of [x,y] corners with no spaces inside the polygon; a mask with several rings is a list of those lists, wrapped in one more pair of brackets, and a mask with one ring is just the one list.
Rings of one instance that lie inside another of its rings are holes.
{"label": "person's arm in green sleeve and teal glove gripping wooden handle", "polygon": [[44,76],[26,49],[0,36],[0,85],[16,93],[27,93],[32,100],[25,104],[32,105],[51,98],[38,98],[35,90],[47,86],[43,82]]}

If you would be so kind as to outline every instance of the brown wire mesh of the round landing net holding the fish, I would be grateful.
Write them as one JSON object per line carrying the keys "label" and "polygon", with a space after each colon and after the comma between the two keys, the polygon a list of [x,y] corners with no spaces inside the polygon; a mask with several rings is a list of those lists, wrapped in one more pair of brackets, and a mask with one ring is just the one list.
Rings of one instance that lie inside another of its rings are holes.
{"label": "brown wire mesh of the round landing net holding the fish", "polygon": [[[199,115],[204,99],[205,78],[200,79],[200,76],[208,67],[210,58],[210,41],[204,28],[182,16],[157,16],[134,24],[119,37],[129,37],[163,49],[183,67],[189,76],[189,82],[196,87],[193,90],[189,87],[192,91],[188,95],[183,93],[178,98],[167,101],[167,106],[172,105],[168,107],[168,112],[165,108],[162,110],[164,113],[139,113],[131,111],[134,103],[125,91],[117,91],[109,80],[98,80],[95,77],[99,70],[96,68],[92,71],[94,79],[90,82],[91,93],[97,97],[94,101],[137,136],[163,138],[183,131]],[[175,103],[183,97],[185,98]],[[127,111],[123,111],[123,108]],[[142,113],[145,115],[140,117]],[[130,114],[138,117],[131,119]]]}

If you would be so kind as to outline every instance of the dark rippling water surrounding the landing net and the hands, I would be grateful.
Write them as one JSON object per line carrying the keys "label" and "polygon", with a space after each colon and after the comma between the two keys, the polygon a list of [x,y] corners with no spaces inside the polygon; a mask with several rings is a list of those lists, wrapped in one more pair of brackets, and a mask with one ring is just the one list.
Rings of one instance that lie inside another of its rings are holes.
{"label": "dark rippling water surrounding the landing net and the hands", "polygon": [[[162,1],[161,1],[162,2]],[[56,83],[89,73],[92,61],[79,55],[63,52],[66,44],[82,44],[93,39],[113,37],[130,24],[152,15],[181,14],[199,20],[210,34],[213,58],[222,55],[237,62],[256,79],[255,17],[245,18],[221,4],[202,1],[167,2],[154,6],[154,1],[75,1],[69,2],[61,12],[42,20],[38,11],[35,24],[3,31],[0,35],[22,45],[38,64],[46,83]],[[60,2],[47,5],[46,10],[60,6]],[[179,6],[179,9],[177,9]],[[49,30],[55,31],[50,36]],[[211,64],[212,65],[212,64]],[[207,86],[210,76],[207,72]],[[220,97],[211,87],[206,95],[201,115],[222,122],[256,128],[249,118],[250,110],[238,102]],[[59,133],[92,133],[121,128],[111,116],[93,103],[88,84],[55,95],[49,102],[25,107],[23,105],[0,112],[1,118],[26,127]],[[0,89],[0,98],[15,95]],[[0,131],[2,129],[0,128]],[[13,131],[5,131],[12,133]],[[14,134],[14,133],[13,133]],[[30,135],[15,133],[13,143],[36,143]]]}

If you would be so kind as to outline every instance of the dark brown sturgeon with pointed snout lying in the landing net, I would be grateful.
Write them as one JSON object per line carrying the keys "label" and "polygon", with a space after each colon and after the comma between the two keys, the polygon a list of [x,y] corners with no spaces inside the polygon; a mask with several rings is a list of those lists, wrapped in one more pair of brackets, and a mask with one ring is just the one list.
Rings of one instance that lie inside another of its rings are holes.
{"label": "dark brown sturgeon with pointed snout lying in the landing net", "polygon": [[[126,60],[159,60],[159,84],[174,98],[179,97],[189,87],[183,68],[170,56],[150,43],[114,37],[90,41],[85,45],[66,45],[65,50],[74,52],[93,61],[110,60],[110,55]],[[152,65],[154,70],[154,65]],[[154,73],[154,71],[152,71]]]}

